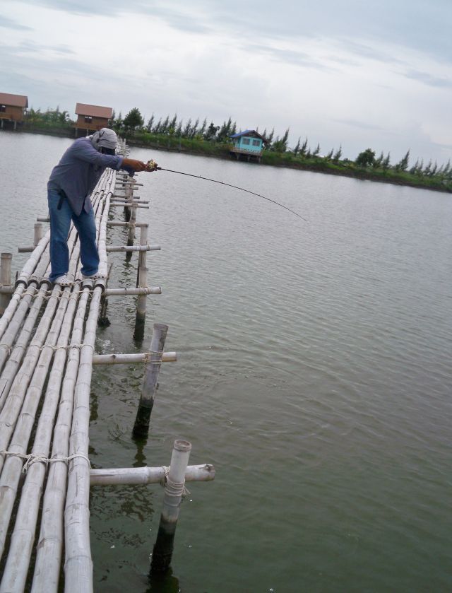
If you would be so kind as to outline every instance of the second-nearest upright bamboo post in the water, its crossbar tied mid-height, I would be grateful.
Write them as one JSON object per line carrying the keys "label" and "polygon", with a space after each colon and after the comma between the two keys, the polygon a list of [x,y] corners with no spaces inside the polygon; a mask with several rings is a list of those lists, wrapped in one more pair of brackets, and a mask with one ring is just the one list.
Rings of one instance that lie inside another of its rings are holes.
{"label": "second-nearest upright bamboo post in the water, its crossbar tied mid-height", "polygon": [[145,438],[149,433],[150,414],[153,410],[155,392],[157,391],[157,380],[162,364],[163,347],[167,337],[168,326],[155,323],[153,337],[150,341],[150,356],[145,364],[143,389],[141,392],[140,404],[136,412],[133,436]]}

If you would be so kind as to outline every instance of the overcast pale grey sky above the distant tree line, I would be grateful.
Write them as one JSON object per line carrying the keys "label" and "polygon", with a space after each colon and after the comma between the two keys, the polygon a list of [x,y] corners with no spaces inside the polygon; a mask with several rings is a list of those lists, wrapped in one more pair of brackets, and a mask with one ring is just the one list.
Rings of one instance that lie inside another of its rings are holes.
{"label": "overcast pale grey sky above the distant tree line", "polygon": [[452,158],[452,0],[4,0],[0,91]]}

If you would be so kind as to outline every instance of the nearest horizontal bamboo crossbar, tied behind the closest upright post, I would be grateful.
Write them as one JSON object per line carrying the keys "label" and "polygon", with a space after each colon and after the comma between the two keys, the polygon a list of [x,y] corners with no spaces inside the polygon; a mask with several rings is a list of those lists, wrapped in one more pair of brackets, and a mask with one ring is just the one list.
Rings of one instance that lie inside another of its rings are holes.
{"label": "nearest horizontal bamboo crossbar, tied behind the closest upright post", "polygon": [[[117,469],[92,469],[91,486],[120,486],[129,484],[157,484],[165,481],[165,467],[121,467]],[[186,467],[186,482],[208,482],[215,478],[215,468],[210,464]]]}

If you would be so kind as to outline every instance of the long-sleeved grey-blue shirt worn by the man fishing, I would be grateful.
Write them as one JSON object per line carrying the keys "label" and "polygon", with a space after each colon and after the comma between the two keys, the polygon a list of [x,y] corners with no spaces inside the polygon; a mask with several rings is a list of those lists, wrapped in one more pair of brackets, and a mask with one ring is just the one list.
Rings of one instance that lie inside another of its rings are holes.
{"label": "long-sleeved grey-blue shirt worn by the man fishing", "polygon": [[[48,189],[63,190],[73,212],[93,209],[90,194],[107,167],[119,170],[123,157],[97,152],[90,139],[79,138],[69,146],[58,165],[53,168],[47,183]],[[124,167],[129,173],[133,171]]]}

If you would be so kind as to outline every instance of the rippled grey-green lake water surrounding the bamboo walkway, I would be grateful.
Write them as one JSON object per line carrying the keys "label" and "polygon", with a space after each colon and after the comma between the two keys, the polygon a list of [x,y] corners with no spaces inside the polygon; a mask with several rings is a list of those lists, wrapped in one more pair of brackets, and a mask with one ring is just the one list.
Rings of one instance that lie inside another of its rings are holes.
{"label": "rippled grey-green lake water surrounding the bamboo walkway", "polygon": [[[46,182],[69,139],[0,134],[0,249],[28,257]],[[147,348],[169,325],[148,442],[131,440],[143,367],[95,368],[96,467],[215,465],[182,505],[172,574],[148,582],[162,488],[93,488],[96,592],[452,590],[452,196],[132,149],[169,172],[151,199],[145,344],[132,298],[111,298],[97,351]],[[118,213],[118,216],[121,216]],[[109,231],[123,245],[123,230]],[[136,258],[113,254],[110,286]]]}

